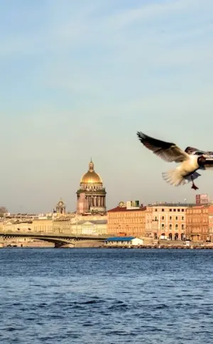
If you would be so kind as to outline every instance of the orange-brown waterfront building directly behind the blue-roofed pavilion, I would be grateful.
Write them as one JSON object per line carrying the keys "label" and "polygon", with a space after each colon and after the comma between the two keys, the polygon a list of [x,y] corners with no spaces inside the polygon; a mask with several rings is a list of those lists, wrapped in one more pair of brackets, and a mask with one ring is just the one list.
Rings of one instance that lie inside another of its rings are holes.
{"label": "orange-brown waterfront building directly behind the blue-roofed pavilion", "polygon": [[145,235],[146,207],[138,201],[121,201],[119,206],[107,211],[107,234]]}

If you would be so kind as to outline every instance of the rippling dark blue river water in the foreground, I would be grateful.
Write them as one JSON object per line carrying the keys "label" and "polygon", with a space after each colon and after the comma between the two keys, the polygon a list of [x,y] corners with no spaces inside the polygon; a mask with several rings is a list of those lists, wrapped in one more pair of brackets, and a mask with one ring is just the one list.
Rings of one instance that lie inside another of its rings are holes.
{"label": "rippling dark blue river water in the foreground", "polygon": [[1,344],[213,343],[213,251],[0,250]]}

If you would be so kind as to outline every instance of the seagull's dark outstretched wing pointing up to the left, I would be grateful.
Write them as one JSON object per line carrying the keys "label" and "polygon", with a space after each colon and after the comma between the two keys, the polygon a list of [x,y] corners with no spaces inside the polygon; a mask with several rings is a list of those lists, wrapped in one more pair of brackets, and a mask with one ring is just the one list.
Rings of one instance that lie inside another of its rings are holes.
{"label": "seagull's dark outstretched wing pointing up to the left", "polygon": [[175,143],[151,138],[151,136],[143,134],[141,131],[138,131],[137,135],[146,148],[152,150],[155,155],[167,162],[183,162],[189,158],[187,152],[181,150]]}

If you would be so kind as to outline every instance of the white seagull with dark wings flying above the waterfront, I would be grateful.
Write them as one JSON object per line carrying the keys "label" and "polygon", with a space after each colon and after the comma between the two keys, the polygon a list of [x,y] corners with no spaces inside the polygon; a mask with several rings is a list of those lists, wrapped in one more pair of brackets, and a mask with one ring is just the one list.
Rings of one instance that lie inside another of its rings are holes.
{"label": "white seagull with dark wings flying above the waterfront", "polygon": [[137,135],[141,143],[161,159],[167,162],[180,162],[175,170],[162,174],[165,182],[175,187],[192,182],[192,189],[197,190],[194,180],[201,175],[197,170],[213,170],[213,152],[211,151],[205,152],[193,147],[187,147],[183,151],[175,143],[151,138],[141,131],[138,131]]}

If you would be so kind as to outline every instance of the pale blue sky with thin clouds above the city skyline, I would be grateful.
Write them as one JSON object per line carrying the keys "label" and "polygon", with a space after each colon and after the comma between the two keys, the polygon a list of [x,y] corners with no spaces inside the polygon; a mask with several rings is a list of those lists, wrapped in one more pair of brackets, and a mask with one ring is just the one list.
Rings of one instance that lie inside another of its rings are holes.
{"label": "pale blue sky with thin clouds above the city skyline", "polygon": [[213,150],[212,13],[212,0],[1,1],[0,205],[46,212],[62,196],[75,211],[91,157],[108,209],[195,201],[136,132]]}

